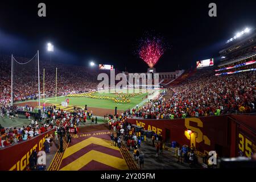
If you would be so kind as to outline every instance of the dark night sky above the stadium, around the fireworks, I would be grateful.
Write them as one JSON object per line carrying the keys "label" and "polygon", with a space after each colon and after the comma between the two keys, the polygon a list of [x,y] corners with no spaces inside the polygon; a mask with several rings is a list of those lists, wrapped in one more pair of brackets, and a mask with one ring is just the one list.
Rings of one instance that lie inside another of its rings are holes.
{"label": "dark night sky above the stadium, around the fireworks", "polygon": [[[46,17],[38,3],[46,3]],[[139,2],[139,3],[138,3]],[[217,17],[208,16],[210,2]],[[134,55],[145,31],[154,31],[170,49],[155,68],[159,72],[195,67],[197,60],[218,59],[226,40],[256,26],[256,1],[5,1],[0,3],[0,54],[88,65],[113,64],[129,72],[146,72]]]}

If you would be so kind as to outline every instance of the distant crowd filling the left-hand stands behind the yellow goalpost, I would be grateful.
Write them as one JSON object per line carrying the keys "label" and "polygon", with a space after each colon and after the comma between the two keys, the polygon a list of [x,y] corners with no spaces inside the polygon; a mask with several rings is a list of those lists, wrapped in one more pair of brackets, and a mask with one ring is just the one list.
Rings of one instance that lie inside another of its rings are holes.
{"label": "distant crowd filling the left-hand stands behind the yellow goalpost", "polygon": [[[28,59],[18,57],[20,63]],[[0,55],[0,102],[11,102],[11,57]],[[55,96],[57,68],[57,95],[68,93],[81,93],[95,90],[98,82],[98,69],[91,69],[79,65],[56,64],[47,61],[40,62],[40,93],[43,97],[43,69],[44,72],[44,97]],[[106,72],[107,73],[107,72]],[[13,100],[34,100],[38,97],[38,73],[36,60],[20,65],[14,61],[13,74]]]}

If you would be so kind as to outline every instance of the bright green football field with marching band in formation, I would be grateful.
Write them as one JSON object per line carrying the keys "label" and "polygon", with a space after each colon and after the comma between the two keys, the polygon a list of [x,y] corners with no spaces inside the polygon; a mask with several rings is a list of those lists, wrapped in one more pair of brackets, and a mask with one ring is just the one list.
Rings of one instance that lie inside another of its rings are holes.
{"label": "bright green football field with marching band in formation", "polygon": [[[114,94],[110,93],[96,93],[94,95],[98,96],[109,96],[109,97],[115,97]],[[57,97],[57,98],[46,98],[44,100],[41,100],[41,102],[46,102],[47,104],[61,104],[61,102],[64,102],[65,99],[69,99],[68,106],[82,106],[84,107],[87,105],[88,107],[97,107],[97,108],[104,108],[104,109],[114,109],[115,106],[118,107],[119,110],[126,110],[131,109],[135,107],[137,104],[139,106],[143,105],[145,102],[147,102],[147,99],[143,100],[143,97],[147,96],[147,93],[143,93],[139,96],[131,97],[130,103],[126,104],[118,104],[115,103],[112,100],[104,100],[104,99],[97,99],[97,98],[86,98],[86,97]]]}

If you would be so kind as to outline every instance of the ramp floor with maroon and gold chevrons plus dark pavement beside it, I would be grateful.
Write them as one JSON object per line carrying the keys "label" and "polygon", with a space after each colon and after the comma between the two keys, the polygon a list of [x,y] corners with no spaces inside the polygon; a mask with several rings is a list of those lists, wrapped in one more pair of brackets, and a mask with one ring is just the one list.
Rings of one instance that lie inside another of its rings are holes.
{"label": "ramp floor with maroon and gold chevrons plus dark pavement beside it", "polygon": [[[117,123],[121,123],[121,129],[125,130],[118,129]],[[108,123],[81,127],[79,133],[72,135],[70,143],[64,142],[63,153],[56,152],[53,159],[51,158],[48,171],[200,168],[190,166],[189,163],[177,163],[176,156],[168,150],[163,152],[163,148],[156,154],[151,140],[140,142],[138,137],[137,142],[134,139],[137,134],[135,129],[127,124],[126,121],[116,121],[111,130]],[[130,144],[127,144],[125,136],[129,136]],[[140,155],[137,154],[137,159],[134,159],[134,151],[137,150]]]}

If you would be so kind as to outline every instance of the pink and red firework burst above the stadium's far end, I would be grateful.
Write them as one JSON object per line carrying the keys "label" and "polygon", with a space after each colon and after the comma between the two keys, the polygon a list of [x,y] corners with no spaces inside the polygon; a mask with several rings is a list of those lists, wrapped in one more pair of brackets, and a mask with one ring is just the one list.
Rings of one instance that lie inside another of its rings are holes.
{"label": "pink and red firework burst above the stadium's far end", "polygon": [[163,38],[160,36],[145,36],[139,40],[138,55],[147,63],[150,68],[153,68],[166,50]]}

